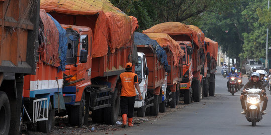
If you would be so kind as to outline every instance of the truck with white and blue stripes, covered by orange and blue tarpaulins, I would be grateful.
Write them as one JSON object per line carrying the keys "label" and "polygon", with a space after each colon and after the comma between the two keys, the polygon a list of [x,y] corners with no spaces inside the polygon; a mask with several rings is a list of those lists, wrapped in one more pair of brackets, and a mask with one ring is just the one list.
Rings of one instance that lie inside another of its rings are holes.
{"label": "truck with white and blue stripes, covered by orange and blue tarpaulins", "polygon": [[40,20],[37,73],[24,77],[21,120],[28,129],[50,133],[55,110],[65,110],[62,84],[67,37],[66,30],[43,9]]}

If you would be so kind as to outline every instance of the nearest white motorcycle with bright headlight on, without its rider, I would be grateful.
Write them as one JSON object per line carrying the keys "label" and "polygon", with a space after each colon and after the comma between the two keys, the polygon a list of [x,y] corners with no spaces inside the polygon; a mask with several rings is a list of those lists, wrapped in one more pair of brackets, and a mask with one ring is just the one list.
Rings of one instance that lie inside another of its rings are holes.
{"label": "nearest white motorcycle with bright headlight on, without its rider", "polygon": [[266,94],[259,88],[249,88],[245,92],[242,92],[246,96],[246,119],[252,123],[252,126],[256,125],[262,119],[262,105],[261,105],[261,94]]}

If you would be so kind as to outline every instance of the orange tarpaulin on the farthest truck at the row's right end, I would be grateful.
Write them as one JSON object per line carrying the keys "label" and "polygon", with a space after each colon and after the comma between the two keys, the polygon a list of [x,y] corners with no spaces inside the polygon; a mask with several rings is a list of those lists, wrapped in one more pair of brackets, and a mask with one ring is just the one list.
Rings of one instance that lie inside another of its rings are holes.
{"label": "orange tarpaulin on the farthest truck at the row's right end", "polygon": [[207,37],[204,38],[204,41],[209,43],[209,45],[207,45],[206,52],[209,52],[210,56],[215,58],[215,60],[217,61],[218,43]]}

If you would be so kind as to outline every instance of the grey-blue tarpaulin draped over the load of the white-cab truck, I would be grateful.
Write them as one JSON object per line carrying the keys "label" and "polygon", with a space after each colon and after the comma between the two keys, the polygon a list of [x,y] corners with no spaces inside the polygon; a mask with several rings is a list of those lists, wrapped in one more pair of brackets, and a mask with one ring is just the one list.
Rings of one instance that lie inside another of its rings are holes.
{"label": "grey-blue tarpaulin draped over the load of the white-cab truck", "polygon": [[156,40],[152,40],[147,35],[140,32],[134,32],[133,36],[135,45],[152,45],[158,60],[161,64],[164,64],[164,68],[166,69],[169,65],[166,51],[156,42]]}

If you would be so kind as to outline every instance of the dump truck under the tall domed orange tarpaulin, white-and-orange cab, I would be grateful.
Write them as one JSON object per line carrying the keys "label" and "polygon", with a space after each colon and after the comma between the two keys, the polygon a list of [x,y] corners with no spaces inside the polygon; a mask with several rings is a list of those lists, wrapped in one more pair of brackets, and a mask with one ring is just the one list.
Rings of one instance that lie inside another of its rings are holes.
{"label": "dump truck under the tall domed orange tarpaulin, white-and-orange cab", "polygon": [[191,44],[181,44],[185,56],[183,70],[180,73],[182,81],[178,90],[180,90],[180,96],[184,96],[185,104],[189,104],[192,97],[194,101],[200,101],[203,87],[201,70],[205,63],[204,34],[195,26],[187,26],[179,22],[160,23],[143,32],[167,33],[175,41],[191,42]]}

